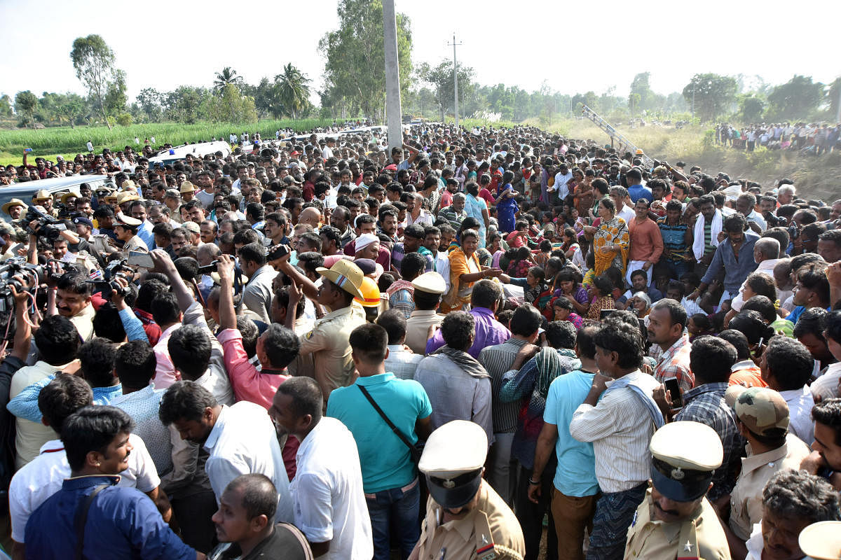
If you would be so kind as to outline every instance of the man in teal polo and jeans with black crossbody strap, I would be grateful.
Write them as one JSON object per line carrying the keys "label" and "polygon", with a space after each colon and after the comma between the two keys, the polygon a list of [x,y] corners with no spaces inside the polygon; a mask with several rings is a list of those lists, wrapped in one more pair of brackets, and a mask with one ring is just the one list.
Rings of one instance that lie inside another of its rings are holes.
{"label": "man in teal polo and jeans with black crossbody strap", "polygon": [[403,557],[415,547],[421,536],[417,524],[420,489],[409,446],[392,431],[365,393],[408,442],[426,440],[431,432],[432,406],[421,384],[385,371],[388,343],[388,334],[379,325],[366,323],[353,329],[351,355],[359,378],[353,385],[333,390],[327,401],[327,416],[340,420],[357,442],[374,560],[390,557],[390,526],[399,527]]}

